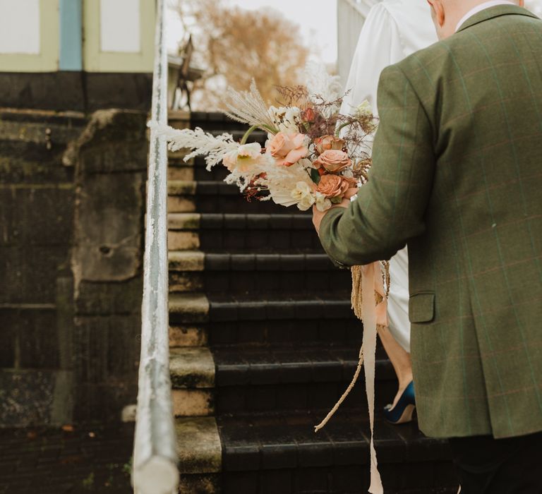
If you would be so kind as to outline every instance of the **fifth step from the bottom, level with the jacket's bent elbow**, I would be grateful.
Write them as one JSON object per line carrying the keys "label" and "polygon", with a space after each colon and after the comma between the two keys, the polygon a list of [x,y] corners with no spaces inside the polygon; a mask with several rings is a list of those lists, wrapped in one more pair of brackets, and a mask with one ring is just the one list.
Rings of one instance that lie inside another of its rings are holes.
{"label": "fifth step from the bottom, level with the jacket's bent elbow", "polygon": [[323,252],[311,215],[185,213],[168,215],[169,250]]}

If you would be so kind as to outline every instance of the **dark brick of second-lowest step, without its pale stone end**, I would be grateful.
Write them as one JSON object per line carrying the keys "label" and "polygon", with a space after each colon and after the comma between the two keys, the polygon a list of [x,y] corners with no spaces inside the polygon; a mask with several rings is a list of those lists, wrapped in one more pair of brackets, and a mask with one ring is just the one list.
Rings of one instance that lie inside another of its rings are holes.
{"label": "dark brick of second-lowest step, without its pale stone end", "polygon": [[[354,376],[359,347],[297,349],[213,348],[215,411],[253,414],[270,411],[320,411],[323,417]],[[367,409],[363,372],[344,408]],[[392,401],[397,380],[387,356],[376,365],[376,406]]]}

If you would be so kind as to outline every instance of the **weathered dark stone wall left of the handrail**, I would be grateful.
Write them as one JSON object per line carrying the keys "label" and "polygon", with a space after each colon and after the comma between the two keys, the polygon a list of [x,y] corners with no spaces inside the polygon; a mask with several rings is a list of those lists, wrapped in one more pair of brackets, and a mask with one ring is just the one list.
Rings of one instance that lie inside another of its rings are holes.
{"label": "weathered dark stone wall left of the handrail", "polygon": [[0,110],[0,426],[135,403],[146,120]]}

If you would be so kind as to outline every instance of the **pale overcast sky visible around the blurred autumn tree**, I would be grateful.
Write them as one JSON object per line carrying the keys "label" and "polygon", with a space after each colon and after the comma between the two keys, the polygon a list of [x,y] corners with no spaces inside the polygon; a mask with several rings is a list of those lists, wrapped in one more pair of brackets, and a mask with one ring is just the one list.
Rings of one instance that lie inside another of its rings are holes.
{"label": "pale overcast sky visible around the blurred autumn tree", "polygon": [[[305,44],[325,63],[337,60],[337,0],[225,0],[225,3],[249,10],[275,8],[301,26]],[[169,12],[168,47],[174,51],[182,32],[176,13]]]}

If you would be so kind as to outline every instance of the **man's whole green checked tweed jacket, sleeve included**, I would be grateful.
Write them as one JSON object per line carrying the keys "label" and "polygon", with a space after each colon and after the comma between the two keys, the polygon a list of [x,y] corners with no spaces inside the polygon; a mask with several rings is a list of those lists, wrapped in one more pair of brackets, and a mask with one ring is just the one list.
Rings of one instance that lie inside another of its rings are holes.
{"label": "man's whole green checked tweed jacket, sleeve included", "polygon": [[373,169],[320,239],[345,265],[409,248],[418,422],[542,430],[542,21],[495,6],[383,71]]}

